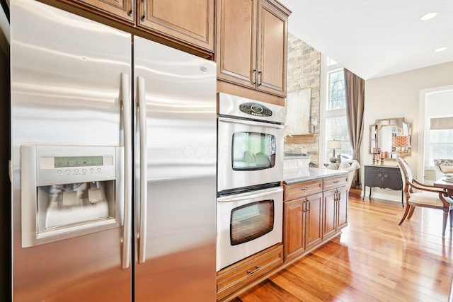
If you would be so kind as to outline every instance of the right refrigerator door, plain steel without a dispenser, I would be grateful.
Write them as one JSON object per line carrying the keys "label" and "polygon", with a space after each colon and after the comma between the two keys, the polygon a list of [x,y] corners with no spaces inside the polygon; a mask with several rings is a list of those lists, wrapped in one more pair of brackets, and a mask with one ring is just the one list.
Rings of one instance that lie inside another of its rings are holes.
{"label": "right refrigerator door, plain steel without a dispenser", "polygon": [[134,37],[134,82],[135,301],[215,301],[216,66]]}

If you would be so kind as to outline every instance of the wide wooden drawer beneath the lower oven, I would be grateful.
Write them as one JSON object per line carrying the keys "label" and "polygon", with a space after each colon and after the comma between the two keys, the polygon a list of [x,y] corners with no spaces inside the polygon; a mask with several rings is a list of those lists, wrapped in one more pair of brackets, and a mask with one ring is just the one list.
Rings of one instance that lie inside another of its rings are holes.
{"label": "wide wooden drawer beneath the lower oven", "polygon": [[283,263],[283,245],[258,252],[217,272],[217,299],[240,289]]}

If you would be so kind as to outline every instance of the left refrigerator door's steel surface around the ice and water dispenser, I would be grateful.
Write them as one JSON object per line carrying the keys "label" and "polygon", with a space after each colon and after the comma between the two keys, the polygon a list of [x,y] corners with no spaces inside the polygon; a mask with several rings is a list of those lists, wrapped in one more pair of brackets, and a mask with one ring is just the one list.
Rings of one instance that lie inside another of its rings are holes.
{"label": "left refrigerator door's steel surface around the ice and water dispenser", "polygon": [[[13,299],[130,301],[122,223],[23,248],[21,146],[122,149],[120,100],[130,100],[125,95],[130,78],[124,75],[131,74],[131,35],[38,1],[10,3]],[[77,202],[75,194],[67,194],[66,201]]]}

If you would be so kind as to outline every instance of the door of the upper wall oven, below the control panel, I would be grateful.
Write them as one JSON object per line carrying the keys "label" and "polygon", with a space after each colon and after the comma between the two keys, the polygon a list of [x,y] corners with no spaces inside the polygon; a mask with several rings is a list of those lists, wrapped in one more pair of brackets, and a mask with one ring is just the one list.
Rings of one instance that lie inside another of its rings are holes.
{"label": "door of the upper wall oven, below the control panel", "polygon": [[219,117],[217,191],[282,181],[284,128]]}

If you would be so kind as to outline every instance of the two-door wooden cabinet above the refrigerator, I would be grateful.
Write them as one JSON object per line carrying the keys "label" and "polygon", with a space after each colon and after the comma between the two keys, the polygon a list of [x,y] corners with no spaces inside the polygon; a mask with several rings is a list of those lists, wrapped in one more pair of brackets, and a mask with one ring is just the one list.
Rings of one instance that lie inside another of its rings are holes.
{"label": "two-door wooden cabinet above the refrigerator", "polygon": [[61,0],[184,45],[214,52],[214,0]]}

